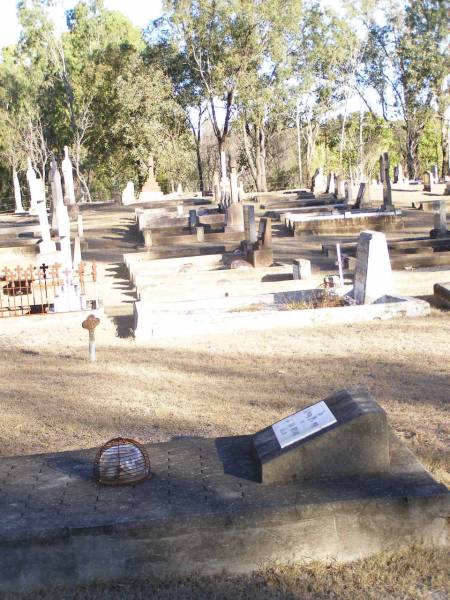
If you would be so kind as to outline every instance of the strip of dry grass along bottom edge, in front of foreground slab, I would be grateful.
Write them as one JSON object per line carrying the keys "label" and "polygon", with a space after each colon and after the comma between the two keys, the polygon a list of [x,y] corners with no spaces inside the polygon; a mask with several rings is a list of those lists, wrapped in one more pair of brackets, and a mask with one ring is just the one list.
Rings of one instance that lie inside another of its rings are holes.
{"label": "strip of dry grass along bottom edge, in front of foreground slab", "polygon": [[250,575],[201,574],[56,588],[12,600],[445,600],[450,595],[444,550],[413,547],[344,565],[272,566]]}

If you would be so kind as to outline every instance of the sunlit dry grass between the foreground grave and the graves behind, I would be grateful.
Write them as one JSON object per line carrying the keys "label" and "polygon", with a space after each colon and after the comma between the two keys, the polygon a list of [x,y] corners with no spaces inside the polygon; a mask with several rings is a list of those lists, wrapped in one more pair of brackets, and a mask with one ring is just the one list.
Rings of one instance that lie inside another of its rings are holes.
{"label": "sunlit dry grass between the foreground grave and the graves behind", "polygon": [[29,349],[0,337],[0,455],[93,447],[118,434],[149,442],[251,433],[337,389],[363,387],[449,484],[449,327],[450,312],[434,311],[143,348],[107,330],[95,364],[79,325],[76,339],[49,331],[51,344],[36,345],[28,331]]}

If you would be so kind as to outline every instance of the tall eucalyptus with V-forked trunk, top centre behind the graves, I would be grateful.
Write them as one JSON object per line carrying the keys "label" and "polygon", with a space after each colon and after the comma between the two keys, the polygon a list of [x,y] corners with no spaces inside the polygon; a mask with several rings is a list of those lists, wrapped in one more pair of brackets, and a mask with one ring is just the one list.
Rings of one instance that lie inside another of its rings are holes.
{"label": "tall eucalyptus with V-forked trunk, top centre behind the graves", "polygon": [[280,32],[295,23],[300,5],[299,0],[164,2],[168,35],[195,74],[219,152],[230,135],[239,95],[272,67],[271,51]]}

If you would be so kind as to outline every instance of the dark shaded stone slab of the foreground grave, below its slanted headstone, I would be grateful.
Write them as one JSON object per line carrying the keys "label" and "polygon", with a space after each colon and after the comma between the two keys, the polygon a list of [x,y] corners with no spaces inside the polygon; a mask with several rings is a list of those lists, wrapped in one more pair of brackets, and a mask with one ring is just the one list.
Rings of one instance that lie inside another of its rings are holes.
{"label": "dark shaded stone slab of the foreground grave, below its slanted headstone", "polygon": [[0,590],[448,545],[447,488],[389,436],[381,473],[267,484],[252,435],[148,444],[152,478],[123,487],[93,480],[95,449],[2,458]]}

